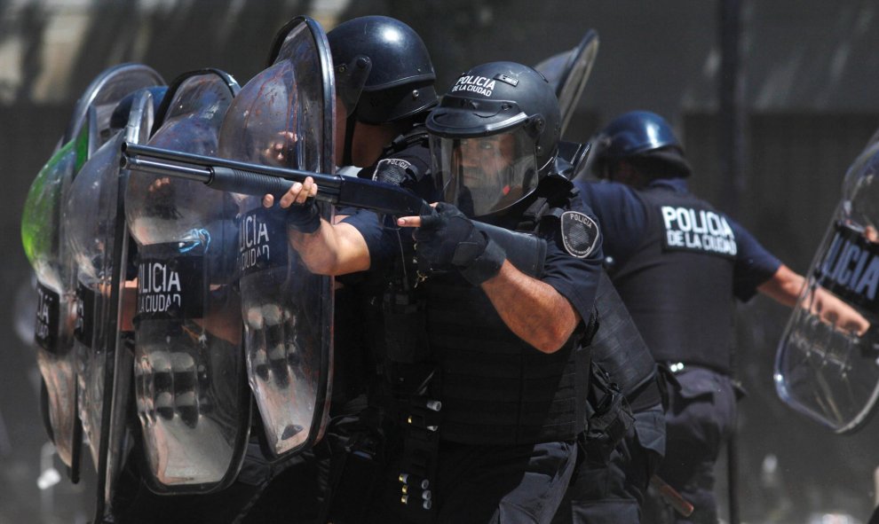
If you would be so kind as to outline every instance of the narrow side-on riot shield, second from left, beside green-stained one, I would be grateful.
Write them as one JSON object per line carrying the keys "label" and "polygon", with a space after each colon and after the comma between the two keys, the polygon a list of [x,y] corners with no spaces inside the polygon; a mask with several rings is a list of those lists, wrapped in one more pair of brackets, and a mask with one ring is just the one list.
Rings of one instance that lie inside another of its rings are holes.
{"label": "narrow side-on riot shield, second from left, beside green-stained one", "polygon": [[77,388],[83,433],[98,473],[99,518],[111,512],[110,501],[125,452],[130,401],[132,353],[123,293],[129,273],[128,235],[122,195],[128,172],[120,168],[124,141],[143,143],[153,120],[153,100],[139,90],[126,127],[96,151],[70,184],[64,205],[67,248],[75,261],[75,350]]}

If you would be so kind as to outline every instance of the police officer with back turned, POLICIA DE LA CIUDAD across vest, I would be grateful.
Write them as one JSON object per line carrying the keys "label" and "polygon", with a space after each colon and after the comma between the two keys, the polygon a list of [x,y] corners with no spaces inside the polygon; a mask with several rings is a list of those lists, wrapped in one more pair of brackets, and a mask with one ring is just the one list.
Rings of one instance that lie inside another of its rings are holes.
{"label": "police officer with back turned, POLICIA DE LA CIUDAD across vest", "polygon": [[[804,280],[687,191],[691,168],[659,115],[622,114],[595,146],[593,168],[604,181],[576,184],[602,225],[614,285],[653,358],[680,384],[669,392],[659,475],[695,506],[690,520],[678,521],[717,522],[713,467],[735,417],[730,298],[748,301],[759,291],[793,306]],[[866,329],[833,297],[823,303],[823,317]]]}

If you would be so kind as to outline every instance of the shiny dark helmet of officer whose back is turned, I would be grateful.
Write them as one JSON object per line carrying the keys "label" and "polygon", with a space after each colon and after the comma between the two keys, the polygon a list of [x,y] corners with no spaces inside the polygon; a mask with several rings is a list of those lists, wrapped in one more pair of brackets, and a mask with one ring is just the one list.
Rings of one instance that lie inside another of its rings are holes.
{"label": "shiny dark helmet of officer whose back is turned", "polygon": [[609,176],[608,170],[620,160],[628,160],[651,178],[690,176],[692,171],[669,122],[649,111],[614,118],[593,139],[592,154],[592,168],[601,178]]}

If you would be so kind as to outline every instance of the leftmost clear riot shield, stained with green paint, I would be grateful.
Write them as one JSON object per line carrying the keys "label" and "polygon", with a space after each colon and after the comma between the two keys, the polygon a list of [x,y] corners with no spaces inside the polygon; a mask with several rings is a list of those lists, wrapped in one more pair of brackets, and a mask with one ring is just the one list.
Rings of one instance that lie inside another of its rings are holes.
{"label": "leftmost clear riot shield, stained with green paint", "polygon": [[46,389],[51,439],[72,481],[78,481],[82,436],[73,351],[74,262],[62,241],[67,226],[62,207],[76,173],[107,139],[116,103],[131,90],[158,82],[159,74],[139,64],[99,74],[83,91],[59,148],[31,185],[22,215],[22,242],[37,277],[36,361]]}

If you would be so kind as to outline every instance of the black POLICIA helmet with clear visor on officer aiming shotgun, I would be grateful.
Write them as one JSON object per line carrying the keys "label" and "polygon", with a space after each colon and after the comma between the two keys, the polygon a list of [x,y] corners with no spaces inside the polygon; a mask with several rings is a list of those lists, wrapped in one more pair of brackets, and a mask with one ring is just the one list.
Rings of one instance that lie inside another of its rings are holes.
{"label": "black POLICIA helmet with clear visor on officer aiming shotgun", "polygon": [[483,217],[527,198],[555,166],[560,125],[555,91],[535,69],[473,67],[427,119],[443,199]]}

